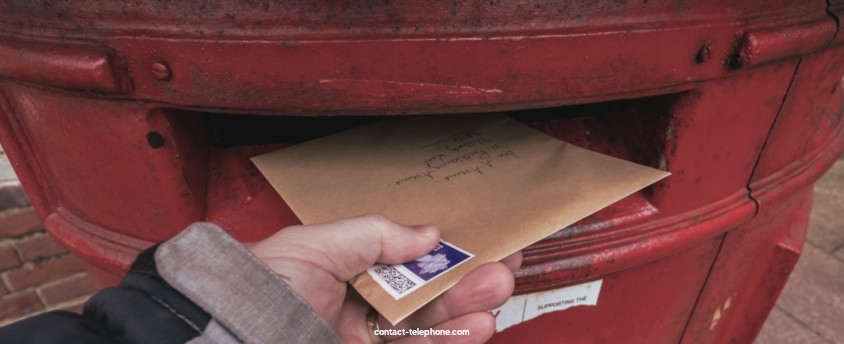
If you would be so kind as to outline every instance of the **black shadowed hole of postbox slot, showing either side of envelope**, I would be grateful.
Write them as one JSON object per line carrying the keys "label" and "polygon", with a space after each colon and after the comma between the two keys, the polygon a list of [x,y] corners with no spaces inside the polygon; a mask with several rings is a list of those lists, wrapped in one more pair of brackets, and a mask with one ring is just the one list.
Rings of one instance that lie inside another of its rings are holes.
{"label": "black shadowed hole of postbox slot, showing either side of envelope", "polygon": [[[659,168],[670,112],[680,96],[669,94],[507,111],[506,114],[563,141]],[[384,117],[201,114],[210,144],[222,149],[248,145],[293,144]]]}

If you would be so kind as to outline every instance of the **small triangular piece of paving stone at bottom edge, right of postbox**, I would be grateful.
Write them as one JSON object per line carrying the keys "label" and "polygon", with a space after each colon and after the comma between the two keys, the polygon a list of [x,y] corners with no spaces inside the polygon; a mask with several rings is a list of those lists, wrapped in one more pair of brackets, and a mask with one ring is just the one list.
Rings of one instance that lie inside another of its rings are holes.
{"label": "small triangular piece of paving stone at bottom edge, right of postbox", "polygon": [[795,321],[779,308],[774,308],[753,343],[805,344],[830,342],[819,337],[812,329]]}

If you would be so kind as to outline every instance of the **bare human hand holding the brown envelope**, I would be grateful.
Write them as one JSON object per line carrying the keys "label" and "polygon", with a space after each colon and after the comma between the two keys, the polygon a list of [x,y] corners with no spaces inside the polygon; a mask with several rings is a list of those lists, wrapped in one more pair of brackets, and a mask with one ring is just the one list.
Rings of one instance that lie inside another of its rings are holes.
{"label": "bare human hand holding the brown envelope", "polygon": [[[407,227],[375,214],[323,224],[291,226],[249,250],[278,273],[325,319],[345,343],[371,343],[366,316],[372,309],[347,282],[374,263],[399,264],[420,258],[439,242],[432,226]],[[383,337],[389,343],[483,343],[495,332],[487,311],[513,293],[516,253],[502,263],[487,263],[407,319],[381,329],[469,330],[470,336]],[[375,338],[377,339],[377,338]]]}

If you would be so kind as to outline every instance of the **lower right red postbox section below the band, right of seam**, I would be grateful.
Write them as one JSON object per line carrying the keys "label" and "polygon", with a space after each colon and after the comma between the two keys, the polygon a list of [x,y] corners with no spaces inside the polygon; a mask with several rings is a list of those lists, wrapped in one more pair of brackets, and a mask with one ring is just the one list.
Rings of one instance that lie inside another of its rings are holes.
{"label": "lower right red postbox section below the band, right of seam", "polygon": [[809,187],[727,233],[682,343],[753,342],[803,249],[811,205]]}

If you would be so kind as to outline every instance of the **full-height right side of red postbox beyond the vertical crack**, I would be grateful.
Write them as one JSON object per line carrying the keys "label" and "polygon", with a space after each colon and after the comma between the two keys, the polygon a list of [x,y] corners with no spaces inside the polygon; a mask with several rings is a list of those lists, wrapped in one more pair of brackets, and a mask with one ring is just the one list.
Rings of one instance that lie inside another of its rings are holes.
{"label": "full-height right side of red postbox beyond the vertical crack", "polygon": [[844,144],[841,51],[800,61],[748,184],[758,213],[727,234],[684,343],[750,343],[773,308],[803,250],[811,182]]}

